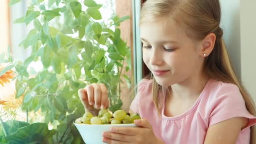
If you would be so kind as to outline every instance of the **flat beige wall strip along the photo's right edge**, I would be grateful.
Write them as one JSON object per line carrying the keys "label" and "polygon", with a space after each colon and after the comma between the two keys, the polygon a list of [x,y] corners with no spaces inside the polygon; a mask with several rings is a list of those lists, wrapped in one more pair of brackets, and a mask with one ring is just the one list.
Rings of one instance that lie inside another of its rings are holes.
{"label": "flat beige wall strip along the photo's right edge", "polygon": [[256,101],[256,0],[241,0],[241,76]]}

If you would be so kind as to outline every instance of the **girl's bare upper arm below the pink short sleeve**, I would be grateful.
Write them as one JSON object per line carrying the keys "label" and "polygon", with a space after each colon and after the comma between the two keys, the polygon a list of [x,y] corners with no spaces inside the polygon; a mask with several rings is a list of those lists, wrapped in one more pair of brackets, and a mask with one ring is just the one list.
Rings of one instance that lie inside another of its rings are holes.
{"label": "girl's bare upper arm below the pink short sleeve", "polygon": [[240,131],[248,124],[245,117],[234,117],[211,125],[204,144],[235,144]]}

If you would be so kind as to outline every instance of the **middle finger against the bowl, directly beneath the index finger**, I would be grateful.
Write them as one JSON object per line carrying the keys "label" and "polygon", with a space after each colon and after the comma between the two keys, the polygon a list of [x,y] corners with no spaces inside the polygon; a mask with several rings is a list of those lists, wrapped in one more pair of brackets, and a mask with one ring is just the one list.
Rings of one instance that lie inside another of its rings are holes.
{"label": "middle finger against the bowl, directly beneath the index finger", "polygon": [[118,141],[118,142],[132,142],[134,140],[134,136],[131,136],[131,135],[124,135],[124,134],[119,134],[119,133],[109,133],[109,132],[104,132],[103,137],[111,140],[111,144],[113,144],[112,143],[113,140]]}

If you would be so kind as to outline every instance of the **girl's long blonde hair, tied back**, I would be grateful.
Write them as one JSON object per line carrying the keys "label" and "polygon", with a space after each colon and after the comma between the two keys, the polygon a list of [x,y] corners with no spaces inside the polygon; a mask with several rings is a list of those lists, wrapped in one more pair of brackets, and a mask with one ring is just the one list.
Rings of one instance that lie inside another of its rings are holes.
{"label": "girl's long blonde hair, tied back", "polygon": [[[171,21],[176,21],[184,27],[188,37],[193,40],[203,40],[208,34],[214,33],[215,45],[211,54],[205,58],[203,73],[209,78],[237,85],[245,100],[246,108],[256,116],[255,104],[237,79],[222,40],[223,30],[219,27],[221,20],[219,0],[147,0],[141,8],[140,25],[156,20],[163,21],[166,26]],[[159,96],[159,92],[171,91],[171,87],[162,88],[153,76],[151,79],[153,101],[160,111],[160,101],[163,100],[163,96]],[[256,127],[252,126],[251,144],[256,144],[255,134]]]}

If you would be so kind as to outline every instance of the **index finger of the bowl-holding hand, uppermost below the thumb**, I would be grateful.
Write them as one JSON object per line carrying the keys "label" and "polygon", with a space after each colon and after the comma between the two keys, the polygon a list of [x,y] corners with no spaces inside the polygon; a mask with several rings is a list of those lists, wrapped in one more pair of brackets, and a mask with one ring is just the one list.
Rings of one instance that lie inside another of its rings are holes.
{"label": "index finger of the bowl-holding hand, uppermost below the thumb", "polygon": [[125,134],[125,135],[137,135],[139,131],[141,131],[141,128],[126,128],[126,127],[112,127],[110,128],[110,131],[113,133],[120,133],[120,134]]}

